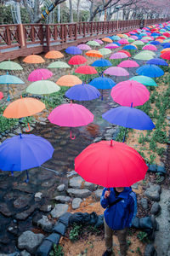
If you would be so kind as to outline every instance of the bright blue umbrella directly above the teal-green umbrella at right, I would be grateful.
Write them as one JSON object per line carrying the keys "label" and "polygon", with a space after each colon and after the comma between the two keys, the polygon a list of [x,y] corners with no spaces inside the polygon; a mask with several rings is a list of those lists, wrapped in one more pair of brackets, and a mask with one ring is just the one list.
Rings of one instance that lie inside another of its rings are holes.
{"label": "bright blue umbrella directly above the teal-green umbrella at right", "polygon": [[150,78],[161,77],[164,72],[160,67],[156,65],[144,65],[136,70],[136,73]]}

